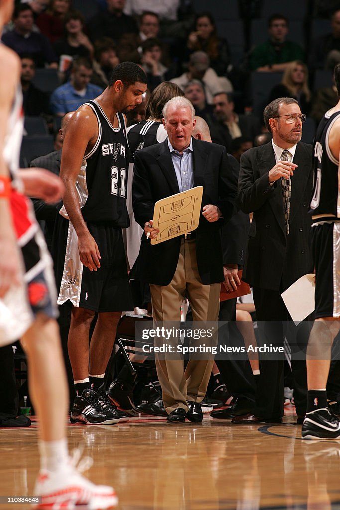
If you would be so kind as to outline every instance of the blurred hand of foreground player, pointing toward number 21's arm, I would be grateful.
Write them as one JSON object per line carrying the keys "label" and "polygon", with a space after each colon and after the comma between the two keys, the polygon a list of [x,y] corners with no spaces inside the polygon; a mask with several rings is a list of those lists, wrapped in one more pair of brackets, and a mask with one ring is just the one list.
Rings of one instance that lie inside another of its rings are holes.
{"label": "blurred hand of foreground player, pointing toward number 21's arm", "polygon": [[19,174],[25,195],[41,198],[47,203],[55,203],[61,199],[64,185],[58,175],[44,168],[21,169]]}

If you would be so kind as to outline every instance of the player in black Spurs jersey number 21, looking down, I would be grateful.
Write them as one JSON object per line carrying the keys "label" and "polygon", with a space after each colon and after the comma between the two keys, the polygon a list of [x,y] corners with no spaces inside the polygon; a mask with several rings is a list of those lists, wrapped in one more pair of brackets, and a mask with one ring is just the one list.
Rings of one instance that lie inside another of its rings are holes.
{"label": "player in black Spurs jersey number 21, looking down", "polygon": [[58,239],[65,249],[59,244],[55,252],[62,252],[58,303],[72,303],[68,352],[77,393],[72,422],[104,423],[102,414],[116,423],[126,419],[96,390],[103,383],[121,312],[133,309],[121,232],[129,225],[128,145],[121,111],[140,104],[145,91],[144,71],[132,62],[119,64],[102,94],[74,113],[63,145],[65,193]]}

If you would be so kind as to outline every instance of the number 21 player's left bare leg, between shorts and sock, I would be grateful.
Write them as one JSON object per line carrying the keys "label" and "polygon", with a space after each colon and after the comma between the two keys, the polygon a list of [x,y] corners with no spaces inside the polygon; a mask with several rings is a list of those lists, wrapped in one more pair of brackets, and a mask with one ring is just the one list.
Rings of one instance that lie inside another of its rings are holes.
{"label": "number 21 player's left bare leg, between shorts and sock", "polygon": [[89,376],[89,331],[93,317],[92,310],[72,307],[67,347],[74,380]]}

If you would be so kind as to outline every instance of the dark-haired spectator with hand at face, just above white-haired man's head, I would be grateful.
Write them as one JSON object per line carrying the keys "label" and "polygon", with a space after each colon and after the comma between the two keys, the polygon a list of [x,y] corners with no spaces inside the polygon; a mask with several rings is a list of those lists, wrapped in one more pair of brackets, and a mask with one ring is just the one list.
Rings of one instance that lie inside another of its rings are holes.
{"label": "dark-haired spectator with hand at face, just above white-haired man's head", "polygon": [[152,92],[160,83],[169,79],[169,70],[162,63],[162,44],[158,39],[146,39],[142,44],[142,67]]}

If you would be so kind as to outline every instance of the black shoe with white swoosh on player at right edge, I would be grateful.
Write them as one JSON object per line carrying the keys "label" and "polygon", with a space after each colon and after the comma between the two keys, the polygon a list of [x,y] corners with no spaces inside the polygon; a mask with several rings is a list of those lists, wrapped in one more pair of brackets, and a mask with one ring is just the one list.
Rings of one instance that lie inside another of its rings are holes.
{"label": "black shoe with white swoosh on player at right edge", "polygon": [[327,408],[306,413],[302,424],[303,439],[340,439],[340,421]]}

